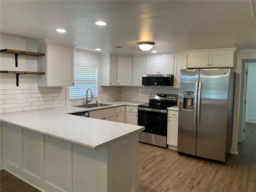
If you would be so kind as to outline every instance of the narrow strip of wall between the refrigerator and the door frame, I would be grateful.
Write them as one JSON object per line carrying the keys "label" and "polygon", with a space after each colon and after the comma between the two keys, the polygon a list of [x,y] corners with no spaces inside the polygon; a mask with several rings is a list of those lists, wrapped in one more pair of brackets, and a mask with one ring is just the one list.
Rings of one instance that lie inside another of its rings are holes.
{"label": "narrow strip of wall between the refrigerator and the door frame", "polygon": [[242,126],[239,127],[239,122],[242,122],[243,109],[240,105],[240,86],[241,86],[241,71],[242,59],[255,59],[256,49],[238,50],[236,54],[236,82],[235,82],[235,97],[234,97],[234,119],[233,119],[233,134],[231,153],[237,154],[238,138],[242,136]]}

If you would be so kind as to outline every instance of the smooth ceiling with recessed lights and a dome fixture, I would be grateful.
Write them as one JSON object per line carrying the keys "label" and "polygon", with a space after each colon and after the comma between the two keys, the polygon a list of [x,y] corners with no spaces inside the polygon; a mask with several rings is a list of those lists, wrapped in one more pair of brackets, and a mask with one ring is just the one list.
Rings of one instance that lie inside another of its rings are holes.
{"label": "smooth ceiling with recessed lights and a dome fixture", "polygon": [[[50,39],[93,52],[144,54],[136,45],[140,41],[156,42],[152,50],[158,52],[256,48],[250,0],[1,0],[0,11],[1,34]],[[96,26],[96,20],[108,25]]]}

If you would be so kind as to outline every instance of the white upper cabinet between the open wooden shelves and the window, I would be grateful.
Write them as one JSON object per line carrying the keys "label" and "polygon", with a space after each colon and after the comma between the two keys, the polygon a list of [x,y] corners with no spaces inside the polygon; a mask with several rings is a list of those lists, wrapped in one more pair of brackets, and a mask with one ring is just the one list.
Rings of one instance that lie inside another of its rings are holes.
{"label": "white upper cabinet between the open wooden shelves and the window", "polygon": [[74,47],[51,40],[36,41],[37,51],[45,53],[38,58],[38,71],[45,75],[38,76],[38,86],[73,86],[74,85]]}

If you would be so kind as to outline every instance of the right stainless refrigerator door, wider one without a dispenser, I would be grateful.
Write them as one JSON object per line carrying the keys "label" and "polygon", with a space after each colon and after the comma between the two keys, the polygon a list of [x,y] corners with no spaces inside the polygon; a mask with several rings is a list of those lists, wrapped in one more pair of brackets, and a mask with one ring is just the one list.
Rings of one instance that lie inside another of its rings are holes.
{"label": "right stainless refrigerator door, wider one without a dispenser", "polygon": [[229,75],[230,69],[200,69],[196,156],[225,161]]}

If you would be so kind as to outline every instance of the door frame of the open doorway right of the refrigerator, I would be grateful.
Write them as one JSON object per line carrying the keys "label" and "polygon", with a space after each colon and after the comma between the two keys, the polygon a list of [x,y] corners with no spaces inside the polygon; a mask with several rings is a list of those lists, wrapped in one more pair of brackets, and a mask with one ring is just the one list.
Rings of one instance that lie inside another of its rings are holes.
{"label": "door frame of the open doorway right of the refrigerator", "polygon": [[245,125],[245,111],[246,105],[244,105],[245,91],[247,87],[247,76],[245,75],[246,66],[248,68],[248,63],[256,63],[256,59],[242,59],[242,69],[241,69],[241,82],[240,82],[240,100],[239,100],[239,115],[238,115],[238,142],[243,140],[243,129]]}

